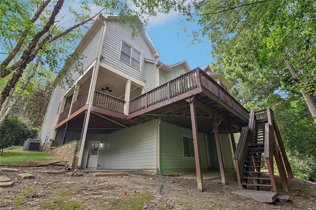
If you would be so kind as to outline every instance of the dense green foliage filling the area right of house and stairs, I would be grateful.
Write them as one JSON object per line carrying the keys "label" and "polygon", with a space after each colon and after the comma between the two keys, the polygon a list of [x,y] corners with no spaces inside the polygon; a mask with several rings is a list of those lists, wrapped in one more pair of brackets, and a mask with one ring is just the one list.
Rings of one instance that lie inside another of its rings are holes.
{"label": "dense green foliage filling the area right of house and stairs", "polygon": [[193,34],[213,43],[211,69],[248,110],[272,107],[294,175],[315,180],[315,0],[208,0],[194,8],[202,15],[189,15],[201,28]]}

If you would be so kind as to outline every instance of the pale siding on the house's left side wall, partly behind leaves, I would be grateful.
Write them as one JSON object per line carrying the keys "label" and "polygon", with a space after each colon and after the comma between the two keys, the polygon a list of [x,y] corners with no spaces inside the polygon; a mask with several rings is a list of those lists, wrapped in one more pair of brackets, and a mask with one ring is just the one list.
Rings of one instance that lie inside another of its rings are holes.
{"label": "pale siding on the house's left side wall, partly behind leaves", "polygon": [[[82,70],[84,71],[83,73],[85,73],[88,70],[87,68],[96,59],[101,32],[102,32],[102,28],[100,28],[96,32],[96,34],[91,38],[91,40],[86,44],[85,48],[82,50],[81,54],[84,56],[84,58],[80,62],[83,64],[82,66]],[[74,70],[74,69],[69,70],[68,74],[71,76],[71,78],[74,81],[76,81],[81,75],[80,72],[78,72],[78,70]],[[65,80],[65,78],[63,80]],[[62,87],[61,85],[57,85],[53,91],[53,95],[51,97],[49,106],[47,107],[43,126],[40,131],[40,140],[42,140],[42,144],[45,143],[43,142],[43,140],[47,141],[53,137],[54,129],[59,117],[59,114],[57,113],[57,109],[58,109],[59,104],[63,101],[64,95],[67,89],[68,87]]]}

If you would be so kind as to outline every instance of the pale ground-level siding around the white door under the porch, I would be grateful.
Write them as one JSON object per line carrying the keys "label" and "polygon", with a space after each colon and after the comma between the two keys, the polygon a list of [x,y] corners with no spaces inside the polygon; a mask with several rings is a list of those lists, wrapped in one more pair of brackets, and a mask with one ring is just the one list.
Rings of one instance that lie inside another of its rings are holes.
{"label": "pale ground-level siding around the white door under the porch", "polygon": [[[97,169],[156,169],[156,120],[123,129],[111,134],[88,135],[89,140],[100,140]],[[85,144],[86,165],[88,143]]]}

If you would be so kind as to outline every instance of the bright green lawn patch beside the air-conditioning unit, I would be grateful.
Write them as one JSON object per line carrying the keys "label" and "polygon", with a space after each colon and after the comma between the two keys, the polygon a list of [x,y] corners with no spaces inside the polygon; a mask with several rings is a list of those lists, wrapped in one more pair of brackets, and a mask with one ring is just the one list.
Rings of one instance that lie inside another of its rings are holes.
{"label": "bright green lawn patch beside the air-conditioning unit", "polygon": [[4,150],[1,155],[3,166],[34,167],[58,161],[63,161],[63,159],[48,152],[23,151],[22,149]]}

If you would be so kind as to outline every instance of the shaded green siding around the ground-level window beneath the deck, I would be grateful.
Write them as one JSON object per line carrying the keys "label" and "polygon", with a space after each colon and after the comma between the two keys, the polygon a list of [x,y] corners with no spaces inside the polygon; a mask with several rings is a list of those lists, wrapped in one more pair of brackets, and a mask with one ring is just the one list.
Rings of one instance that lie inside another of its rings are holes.
{"label": "shaded green siding around the ground-level window beneath the deck", "polygon": [[[160,124],[161,172],[194,171],[195,158],[184,157],[182,136],[192,137],[192,130],[166,122]],[[208,169],[204,134],[198,133],[201,168]]]}

